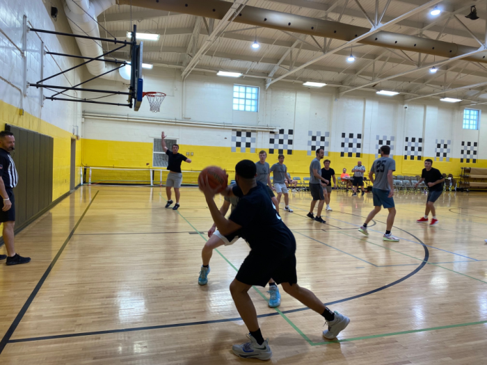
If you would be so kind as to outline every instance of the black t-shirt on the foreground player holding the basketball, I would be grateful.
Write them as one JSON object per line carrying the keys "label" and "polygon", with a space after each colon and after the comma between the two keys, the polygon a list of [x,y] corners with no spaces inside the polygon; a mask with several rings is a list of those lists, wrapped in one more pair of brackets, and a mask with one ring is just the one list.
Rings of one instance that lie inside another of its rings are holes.
{"label": "black t-shirt on the foreground player holding the basketball", "polygon": [[242,226],[241,236],[250,248],[266,256],[286,257],[294,253],[294,235],[274,209],[266,186],[257,181],[257,186],[247,195],[239,186],[234,186],[232,191],[239,197],[239,202],[230,214],[230,220]]}

